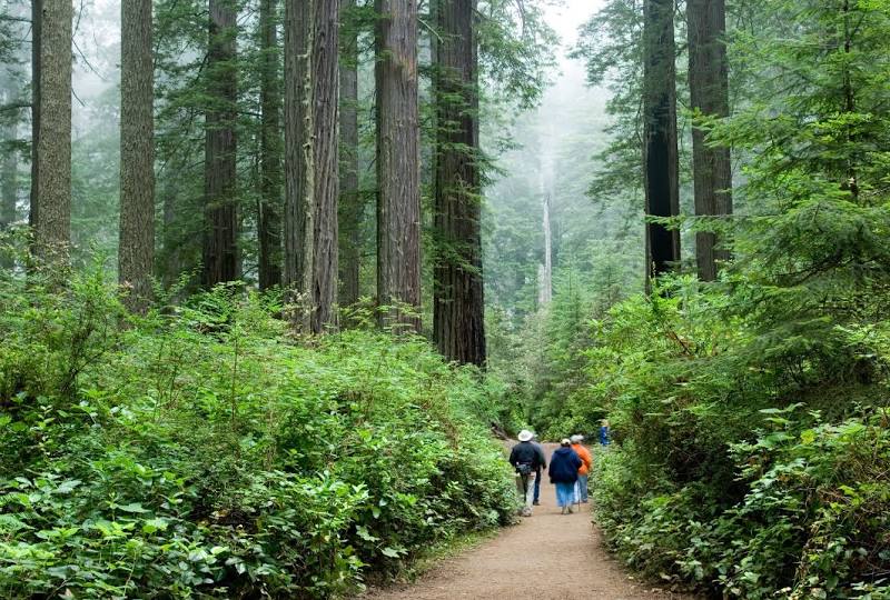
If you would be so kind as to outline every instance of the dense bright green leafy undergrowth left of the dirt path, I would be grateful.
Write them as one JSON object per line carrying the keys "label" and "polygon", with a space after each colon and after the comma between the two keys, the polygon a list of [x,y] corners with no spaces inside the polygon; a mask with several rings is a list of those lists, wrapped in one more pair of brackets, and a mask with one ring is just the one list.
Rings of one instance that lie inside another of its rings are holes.
{"label": "dense bright green leafy undergrowth left of the dirt path", "polygon": [[136,319],[101,271],[2,276],[0,596],[338,597],[511,520],[473,370],[237,287]]}

